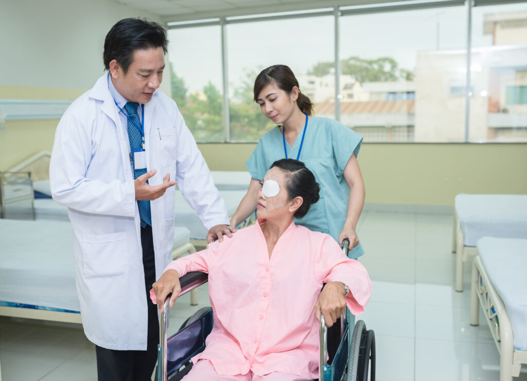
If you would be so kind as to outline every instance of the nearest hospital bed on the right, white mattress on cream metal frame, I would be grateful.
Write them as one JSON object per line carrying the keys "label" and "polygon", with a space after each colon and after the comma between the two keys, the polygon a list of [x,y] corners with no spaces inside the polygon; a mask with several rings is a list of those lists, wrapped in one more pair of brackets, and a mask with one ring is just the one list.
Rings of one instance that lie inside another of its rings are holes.
{"label": "nearest hospital bed on the right, white mattress on cream metal frame", "polygon": [[470,324],[481,305],[500,353],[500,381],[527,364],[527,239],[483,237],[472,264]]}

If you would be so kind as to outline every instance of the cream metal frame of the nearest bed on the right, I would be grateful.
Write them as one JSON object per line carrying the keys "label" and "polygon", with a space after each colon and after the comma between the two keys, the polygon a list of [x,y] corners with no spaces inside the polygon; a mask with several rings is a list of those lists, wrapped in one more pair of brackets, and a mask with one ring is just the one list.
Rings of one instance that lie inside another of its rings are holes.
{"label": "cream metal frame of the nearest bed on the right", "polygon": [[512,377],[520,375],[521,365],[527,364],[527,350],[514,349],[509,315],[478,255],[472,263],[470,303],[470,325],[472,326],[479,325],[480,305],[500,353],[500,381],[512,381]]}

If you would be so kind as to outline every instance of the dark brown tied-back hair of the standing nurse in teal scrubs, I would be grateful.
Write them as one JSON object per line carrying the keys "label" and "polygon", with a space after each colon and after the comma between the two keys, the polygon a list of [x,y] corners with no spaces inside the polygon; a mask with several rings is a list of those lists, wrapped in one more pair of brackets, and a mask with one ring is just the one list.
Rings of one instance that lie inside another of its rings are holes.
{"label": "dark brown tied-back hair of the standing nurse in teal scrubs", "polygon": [[293,74],[289,66],[286,65],[272,65],[258,74],[255,80],[255,87],[253,88],[255,102],[262,89],[273,82],[276,83],[279,89],[285,91],[287,94],[291,93],[293,87],[296,86],[298,88],[298,108],[300,108],[302,113],[313,115],[313,103],[311,103],[307,95],[300,92],[300,85],[298,84],[295,74]]}

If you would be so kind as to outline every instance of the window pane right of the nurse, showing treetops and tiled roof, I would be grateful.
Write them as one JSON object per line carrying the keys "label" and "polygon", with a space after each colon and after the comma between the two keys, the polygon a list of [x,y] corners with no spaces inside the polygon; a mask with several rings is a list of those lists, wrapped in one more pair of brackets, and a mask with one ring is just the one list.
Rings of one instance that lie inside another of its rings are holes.
{"label": "window pane right of the nurse, showing treetops and tiled roof", "polygon": [[355,97],[342,99],[340,121],[365,142],[462,141],[465,9],[344,15],[340,83],[355,81]]}

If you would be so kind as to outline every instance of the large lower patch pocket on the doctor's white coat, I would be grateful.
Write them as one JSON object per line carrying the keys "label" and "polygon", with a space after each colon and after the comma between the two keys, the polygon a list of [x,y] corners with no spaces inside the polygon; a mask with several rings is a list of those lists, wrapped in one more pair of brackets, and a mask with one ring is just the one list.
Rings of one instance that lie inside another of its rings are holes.
{"label": "large lower patch pocket on the doctor's white coat", "polygon": [[81,246],[85,277],[118,278],[128,274],[126,232],[86,234]]}

